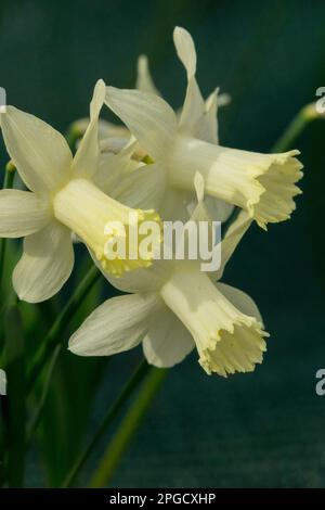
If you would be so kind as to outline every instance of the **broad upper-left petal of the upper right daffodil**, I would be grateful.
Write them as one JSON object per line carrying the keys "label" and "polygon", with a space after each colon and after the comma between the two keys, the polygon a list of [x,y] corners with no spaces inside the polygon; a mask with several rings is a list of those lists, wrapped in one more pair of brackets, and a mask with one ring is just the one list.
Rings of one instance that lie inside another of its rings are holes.
{"label": "broad upper-left petal of the upper right daffodil", "polygon": [[107,106],[154,160],[164,160],[177,133],[177,117],[161,98],[140,90],[106,88]]}

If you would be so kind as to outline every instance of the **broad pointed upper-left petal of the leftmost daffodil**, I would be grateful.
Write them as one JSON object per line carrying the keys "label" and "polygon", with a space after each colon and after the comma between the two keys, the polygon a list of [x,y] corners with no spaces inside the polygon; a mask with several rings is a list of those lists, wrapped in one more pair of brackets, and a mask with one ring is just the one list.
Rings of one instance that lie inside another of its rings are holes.
{"label": "broad pointed upper-left petal of the leftmost daffodil", "polygon": [[67,179],[73,156],[64,137],[49,124],[14,106],[1,115],[5,146],[31,191],[53,191]]}

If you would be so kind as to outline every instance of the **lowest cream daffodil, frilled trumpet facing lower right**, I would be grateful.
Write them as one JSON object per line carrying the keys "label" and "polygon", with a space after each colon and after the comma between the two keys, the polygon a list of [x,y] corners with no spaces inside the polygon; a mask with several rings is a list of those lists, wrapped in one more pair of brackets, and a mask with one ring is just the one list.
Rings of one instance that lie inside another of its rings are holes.
{"label": "lowest cream daffodil, frilled trumpet facing lower right", "polygon": [[196,347],[208,374],[252,371],[262,362],[269,335],[253,301],[219,282],[250,222],[242,211],[229,228],[217,273],[202,272],[196,262],[176,260],[156,262],[118,280],[106,276],[131,294],[98,307],[70,337],[69,349],[80,356],[110,356],[142,342],[150,364],[172,367]]}

